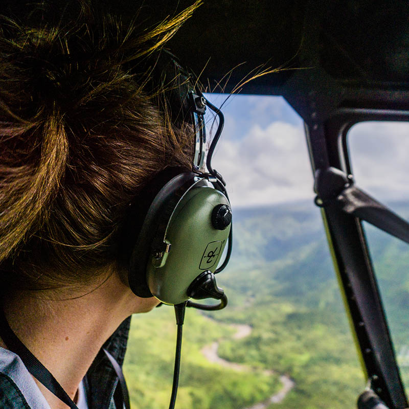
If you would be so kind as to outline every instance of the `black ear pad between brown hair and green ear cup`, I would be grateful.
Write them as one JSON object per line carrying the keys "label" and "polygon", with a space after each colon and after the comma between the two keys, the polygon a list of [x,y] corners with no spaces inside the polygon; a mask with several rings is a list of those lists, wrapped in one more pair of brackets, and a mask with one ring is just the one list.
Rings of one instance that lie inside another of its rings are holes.
{"label": "black ear pad between brown hair and green ear cup", "polygon": [[129,262],[129,286],[137,296],[152,297],[146,280],[146,269],[152,254],[153,240],[157,236],[160,225],[164,223],[164,216],[172,214],[180,197],[199,179],[193,172],[180,173],[173,177],[153,199],[146,213],[136,244],[131,251]]}

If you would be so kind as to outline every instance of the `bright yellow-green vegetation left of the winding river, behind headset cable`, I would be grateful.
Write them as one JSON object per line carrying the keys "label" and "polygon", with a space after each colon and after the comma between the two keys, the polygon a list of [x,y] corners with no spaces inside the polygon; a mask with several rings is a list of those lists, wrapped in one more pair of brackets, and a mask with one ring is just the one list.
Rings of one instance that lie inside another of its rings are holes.
{"label": "bright yellow-green vegetation left of the winding river, behind headset cable", "polygon": [[[200,349],[236,331],[195,310],[186,314],[177,406],[237,409],[280,388],[277,376],[225,369],[207,361]],[[171,308],[133,317],[125,375],[132,407],[166,408],[172,389],[176,325]]]}

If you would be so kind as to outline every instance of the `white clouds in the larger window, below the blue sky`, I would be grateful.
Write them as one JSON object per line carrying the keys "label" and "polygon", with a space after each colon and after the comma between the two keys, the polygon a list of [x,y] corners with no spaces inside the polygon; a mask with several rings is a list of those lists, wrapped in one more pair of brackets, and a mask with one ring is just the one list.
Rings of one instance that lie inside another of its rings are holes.
{"label": "white clouds in the larger window, below the blue sky", "polygon": [[275,121],[265,128],[255,124],[239,139],[229,134],[218,146],[213,164],[228,183],[234,207],[313,198],[301,121],[299,125]]}

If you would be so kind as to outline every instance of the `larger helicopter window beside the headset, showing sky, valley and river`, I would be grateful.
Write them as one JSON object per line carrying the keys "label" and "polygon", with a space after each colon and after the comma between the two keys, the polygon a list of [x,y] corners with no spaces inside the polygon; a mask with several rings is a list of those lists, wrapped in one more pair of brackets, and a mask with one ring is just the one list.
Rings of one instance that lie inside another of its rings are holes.
{"label": "larger helicopter window beside the headset, showing sky, valley and river", "polygon": [[[229,305],[186,312],[176,407],[354,407],[365,381],[313,204],[303,122],[282,97],[206,98],[225,116],[213,167],[233,209],[233,255],[217,276]],[[209,140],[217,126],[205,122]],[[172,308],[133,316],[124,372],[135,408],[167,407],[175,333]]]}

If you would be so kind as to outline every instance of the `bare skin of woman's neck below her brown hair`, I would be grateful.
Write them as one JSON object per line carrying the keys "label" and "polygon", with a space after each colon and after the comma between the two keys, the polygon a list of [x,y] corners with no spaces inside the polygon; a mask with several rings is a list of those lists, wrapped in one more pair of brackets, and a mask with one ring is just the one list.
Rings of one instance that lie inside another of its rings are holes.
{"label": "bare skin of woman's neck below her brown hair", "polygon": [[[98,351],[121,322],[134,312],[149,311],[156,304],[152,299],[134,296],[117,274],[84,296],[78,295],[65,294],[57,300],[21,291],[4,300],[11,329],[71,399]],[[6,348],[1,339],[0,346]],[[53,409],[68,407],[36,382]]]}

